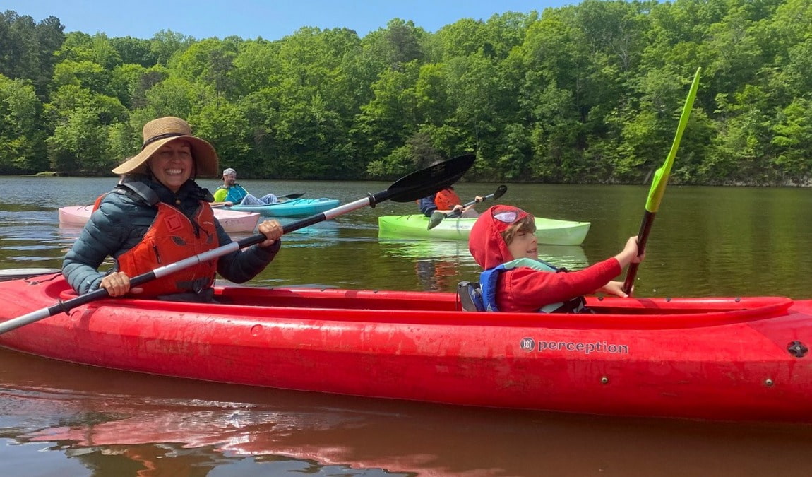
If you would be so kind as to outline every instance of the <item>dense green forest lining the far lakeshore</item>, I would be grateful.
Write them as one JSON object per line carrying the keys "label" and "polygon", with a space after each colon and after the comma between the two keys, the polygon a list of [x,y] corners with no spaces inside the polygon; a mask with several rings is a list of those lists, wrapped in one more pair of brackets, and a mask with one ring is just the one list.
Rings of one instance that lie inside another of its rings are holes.
{"label": "dense green forest lining the far lakeshore", "polygon": [[809,0],[585,0],[276,41],[64,33],[5,11],[0,174],[110,174],[145,122],[177,115],[242,177],[388,180],[474,151],[468,180],[641,184],[697,67],[672,181],[810,184]]}

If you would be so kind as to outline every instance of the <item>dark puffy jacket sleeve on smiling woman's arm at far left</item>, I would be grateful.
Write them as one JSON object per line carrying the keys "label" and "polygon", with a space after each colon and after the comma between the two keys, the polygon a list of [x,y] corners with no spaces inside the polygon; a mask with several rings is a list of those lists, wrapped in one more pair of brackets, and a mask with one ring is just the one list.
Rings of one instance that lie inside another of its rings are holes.
{"label": "dark puffy jacket sleeve on smiling woman's arm at far left", "polygon": [[130,217],[121,206],[110,202],[102,202],[90,215],[62,264],[62,274],[76,293],[99,287],[106,273],[98,271],[98,267],[106,257],[122,249],[129,236]]}

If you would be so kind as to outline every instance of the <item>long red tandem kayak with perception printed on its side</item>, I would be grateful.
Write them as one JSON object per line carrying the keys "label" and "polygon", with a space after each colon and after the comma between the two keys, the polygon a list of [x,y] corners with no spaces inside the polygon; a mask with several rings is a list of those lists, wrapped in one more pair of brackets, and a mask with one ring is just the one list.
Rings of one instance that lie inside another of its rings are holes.
{"label": "long red tandem kayak with perception printed on its side", "polygon": [[[73,297],[0,283],[0,322]],[[455,293],[217,288],[105,299],[0,335],[24,353],[223,383],[618,416],[812,423],[812,301],[590,297],[598,314],[477,313]]]}

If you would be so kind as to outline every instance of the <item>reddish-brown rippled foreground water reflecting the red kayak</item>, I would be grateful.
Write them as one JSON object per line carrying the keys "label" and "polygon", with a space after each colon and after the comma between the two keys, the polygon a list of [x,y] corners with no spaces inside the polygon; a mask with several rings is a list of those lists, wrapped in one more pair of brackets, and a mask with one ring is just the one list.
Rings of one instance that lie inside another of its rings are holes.
{"label": "reddish-brown rippled foreground water reflecting the red kayak", "polygon": [[39,475],[80,475],[77,462],[94,475],[649,475],[674,468],[662,449],[711,475],[777,475],[797,470],[810,445],[797,425],[482,412],[122,376],[7,350],[0,360],[3,436],[35,443],[7,449]]}

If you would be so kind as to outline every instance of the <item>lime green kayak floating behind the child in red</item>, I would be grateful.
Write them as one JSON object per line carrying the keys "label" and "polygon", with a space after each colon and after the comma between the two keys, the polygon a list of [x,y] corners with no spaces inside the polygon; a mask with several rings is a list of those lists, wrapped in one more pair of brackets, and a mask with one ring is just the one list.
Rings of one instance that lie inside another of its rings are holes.
{"label": "lime green kayak floating behind the child in red", "polygon": [[[429,218],[422,214],[382,215],[378,217],[378,236],[467,241],[476,221],[477,219],[443,219],[437,227],[429,230]],[[587,232],[590,232],[589,222],[536,217],[539,244],[581,245]]]}

